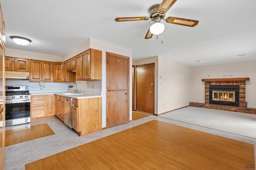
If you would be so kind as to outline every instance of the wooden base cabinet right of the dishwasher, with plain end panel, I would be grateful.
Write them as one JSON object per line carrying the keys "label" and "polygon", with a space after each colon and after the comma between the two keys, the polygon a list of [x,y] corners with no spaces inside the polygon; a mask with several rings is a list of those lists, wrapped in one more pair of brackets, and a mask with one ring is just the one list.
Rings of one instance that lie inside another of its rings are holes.
{"label": "wooden base cabinet right of the dishwasher, with plain end panel", "polygon": [[73,99],[72,123],[80,136],[102,130],[102,98]]}

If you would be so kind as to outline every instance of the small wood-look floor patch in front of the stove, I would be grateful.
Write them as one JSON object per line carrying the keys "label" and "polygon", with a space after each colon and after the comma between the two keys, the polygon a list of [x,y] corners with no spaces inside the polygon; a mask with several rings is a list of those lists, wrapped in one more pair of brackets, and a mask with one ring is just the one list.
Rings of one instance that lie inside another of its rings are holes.
{"label": "small wood-look floor patch in front of the stove", "polygon": [[5,133],[5,147],[55,134],[47,123],[12,129]]}

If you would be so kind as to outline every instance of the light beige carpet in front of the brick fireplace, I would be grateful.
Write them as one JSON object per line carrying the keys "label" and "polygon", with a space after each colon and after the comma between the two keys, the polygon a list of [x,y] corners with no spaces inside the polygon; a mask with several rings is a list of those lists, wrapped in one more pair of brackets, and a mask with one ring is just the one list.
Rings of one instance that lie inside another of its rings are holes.
{"label": "light beige carpet in front of the brick fireplace", "polygon": [[188,106],[159,117],[256,139],[255,114]]}

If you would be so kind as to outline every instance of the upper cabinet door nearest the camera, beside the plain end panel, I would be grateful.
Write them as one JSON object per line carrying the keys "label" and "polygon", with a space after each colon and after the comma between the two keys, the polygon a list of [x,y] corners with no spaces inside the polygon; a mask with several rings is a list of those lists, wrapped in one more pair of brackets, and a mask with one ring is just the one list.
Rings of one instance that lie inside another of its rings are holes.
{"label": "upper cabinet door nearest the camera, beside the plain end panel", "polygon": [[91,60],[90,60],[90,50],[85,51],[83,54],[83,64],[82,64],[82,79],[91,78]]}

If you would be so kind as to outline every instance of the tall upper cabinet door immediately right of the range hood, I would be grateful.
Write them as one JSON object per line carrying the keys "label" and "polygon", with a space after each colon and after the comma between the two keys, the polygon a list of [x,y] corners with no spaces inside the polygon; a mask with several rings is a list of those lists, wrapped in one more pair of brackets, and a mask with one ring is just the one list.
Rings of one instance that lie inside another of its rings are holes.
{"label": "tall upper cabinet door immediately right of the range hood", "polygon": [[30,60],[30,81],[42,81],[42,61]]}

